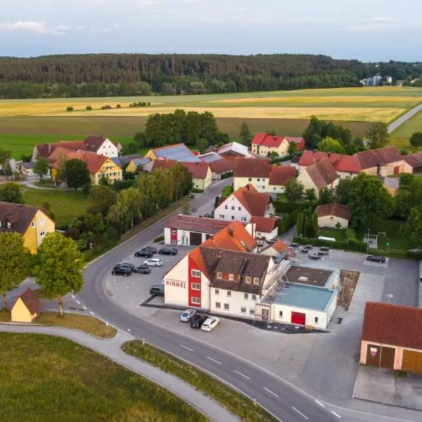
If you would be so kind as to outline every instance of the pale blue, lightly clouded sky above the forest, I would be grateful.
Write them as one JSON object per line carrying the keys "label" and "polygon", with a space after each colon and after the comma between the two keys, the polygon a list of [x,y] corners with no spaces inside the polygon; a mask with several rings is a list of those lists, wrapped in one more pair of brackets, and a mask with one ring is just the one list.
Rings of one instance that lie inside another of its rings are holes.
{"label": "pale blue, lightly clouded sky above the forest", "polygon": [[0,56],[62,53],[422,61],[422,1],[0,0]]}

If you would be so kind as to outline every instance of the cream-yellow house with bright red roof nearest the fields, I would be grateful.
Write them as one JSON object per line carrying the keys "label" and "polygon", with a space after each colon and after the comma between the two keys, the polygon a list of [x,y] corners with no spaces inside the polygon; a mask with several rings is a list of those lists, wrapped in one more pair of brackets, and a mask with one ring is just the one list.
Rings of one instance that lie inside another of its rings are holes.
{"label": "cream-yellow house with bright red roof nearest the fields", "polygon": [[274,136],[258,132],[252,139],[252,153],[260,157],[267,157],[271,153],[276,153],[280,157],[288,155],[290,143],[296,144],[297,151],[305,149],[305,139],[293,136]]}

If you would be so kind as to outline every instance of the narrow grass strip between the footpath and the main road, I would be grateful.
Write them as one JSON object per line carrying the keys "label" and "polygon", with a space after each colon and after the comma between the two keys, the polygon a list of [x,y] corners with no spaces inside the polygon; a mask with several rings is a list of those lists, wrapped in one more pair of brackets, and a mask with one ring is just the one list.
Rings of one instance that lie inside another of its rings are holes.
{"label": "narrow grass strip between the footpath and the main road", "polygon": [[135,340],[122,345],[124,352],[139,357],[163,371],[172,373],[182,380],[190,383],[198,390],[224,404],[227,409],[236,414],[243,421],[248,422],[275,422],[276,419],[267,414],[260,406],[254,406],[253,402],[241,393],[217,381],[207,373],[196,369],[194,366],[173,357],[171,354],[158,350],[151,345],[142,345],[141,341]]}

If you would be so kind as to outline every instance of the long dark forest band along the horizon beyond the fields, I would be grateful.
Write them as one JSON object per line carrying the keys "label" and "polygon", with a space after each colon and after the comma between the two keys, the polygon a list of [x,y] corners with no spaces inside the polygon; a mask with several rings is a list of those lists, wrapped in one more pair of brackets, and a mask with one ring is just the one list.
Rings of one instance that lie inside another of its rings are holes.
{"label": "long dark forest band along the horizon beyond the fields", "polygon": [[377,73],[420,77],[422,64],[310,54],[77,54],[0,58],[0,98],[213,94],[359,87]]}

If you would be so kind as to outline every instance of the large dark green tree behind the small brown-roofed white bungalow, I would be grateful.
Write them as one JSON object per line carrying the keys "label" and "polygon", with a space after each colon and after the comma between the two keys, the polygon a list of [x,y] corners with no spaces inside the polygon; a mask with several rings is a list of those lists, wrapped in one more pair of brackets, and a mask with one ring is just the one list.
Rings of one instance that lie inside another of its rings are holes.
{"label": "large dark green tree behind the small brown-roofed white bungalow", "polygon": [[393,200],[390,193],[375,176],[366,173],[353,179],[348,207],[352,212],[353,225],[369,229],[392,215]]}

